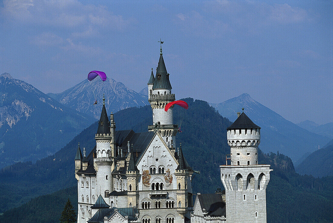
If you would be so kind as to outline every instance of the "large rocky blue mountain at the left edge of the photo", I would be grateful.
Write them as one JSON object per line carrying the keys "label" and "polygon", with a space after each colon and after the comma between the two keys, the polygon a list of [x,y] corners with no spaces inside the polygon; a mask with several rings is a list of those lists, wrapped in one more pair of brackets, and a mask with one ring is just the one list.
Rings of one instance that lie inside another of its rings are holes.
{"label": "large rocky blue mountain at the left edge of the photo", "polygon": [[53,154],[93,122],[8,73],[0,97],[0,168]]}

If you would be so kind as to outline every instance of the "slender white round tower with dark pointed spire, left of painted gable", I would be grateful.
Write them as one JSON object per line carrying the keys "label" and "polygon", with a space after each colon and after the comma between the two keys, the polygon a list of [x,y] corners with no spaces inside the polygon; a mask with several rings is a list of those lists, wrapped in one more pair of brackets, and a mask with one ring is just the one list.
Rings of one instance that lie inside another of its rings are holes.
{"label": "slender white round tower with dark pointed spire, left of painted gable", "polygon": [[105,108],[105,98],[103,95],[103,108],[100,121],[98,122],[98,129],[95,135],[96,139],[96,157],[94,163],[96,164],[96,189],[104,197],[107,197],[113,191],[113,177],[112,170],[115,166],[115,148],[114,133],[116,124],[111,115],[111,124]]}

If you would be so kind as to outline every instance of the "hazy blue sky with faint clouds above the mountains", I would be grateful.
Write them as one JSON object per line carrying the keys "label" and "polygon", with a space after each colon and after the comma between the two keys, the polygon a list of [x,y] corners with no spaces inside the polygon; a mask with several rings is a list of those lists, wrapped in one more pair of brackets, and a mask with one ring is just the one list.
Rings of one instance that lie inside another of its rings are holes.
{"label": "hazy blue sky with faint clouds above the mountains", "polygon": [[294,123],[323,124],[333,121],[332,12],[318,0],[4,0],[0,73],[56,93],[101,70],[140,91],[162,38],[177,99],[249,93]]}

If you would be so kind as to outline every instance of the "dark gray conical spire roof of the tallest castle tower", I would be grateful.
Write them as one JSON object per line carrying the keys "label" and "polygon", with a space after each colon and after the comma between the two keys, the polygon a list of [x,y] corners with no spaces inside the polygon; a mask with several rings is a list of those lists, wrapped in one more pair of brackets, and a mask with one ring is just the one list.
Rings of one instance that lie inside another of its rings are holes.
{"label": "dark gray conical spire roof of the tallest castle tower", "polygon": [[166,65],[164,63],[163,55],[160,54],[159,64],[156,69],[156,77],[153,89],[172,89],[169,74],[166,72]]}

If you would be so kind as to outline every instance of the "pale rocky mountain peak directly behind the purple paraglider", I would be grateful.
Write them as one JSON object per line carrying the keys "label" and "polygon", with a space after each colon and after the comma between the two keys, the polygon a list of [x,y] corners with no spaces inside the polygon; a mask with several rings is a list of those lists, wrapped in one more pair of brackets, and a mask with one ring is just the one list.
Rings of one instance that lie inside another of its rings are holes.
{"label": "pale rocky mountain peak directly behind the purple paraglider", "polygon": [[103,94],[106,98],[107,111],[117,112],[129,107],[148,105],[147,92],[142,95],[129,89],[122,82],[117,82],[109,77],[106,81],[102,81],[97,77],[92,81],[86,79],[61,93],[48,93],[48,95],[61,104],[81,113],[92,114],[96,119],[99,119],[101,116],[100,107],[94,105],[94,102],[97,101],[97,105],[102,104]]}

